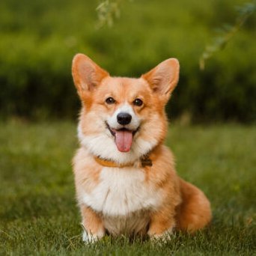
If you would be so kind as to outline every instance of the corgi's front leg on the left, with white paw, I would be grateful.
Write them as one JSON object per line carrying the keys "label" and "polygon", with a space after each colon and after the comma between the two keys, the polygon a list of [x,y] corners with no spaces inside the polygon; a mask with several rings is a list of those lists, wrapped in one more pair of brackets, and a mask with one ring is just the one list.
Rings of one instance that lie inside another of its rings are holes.
{"label": "corgi's front leg on the left, with white paw", "polygon": [[81,206],[81,213],[82,225],[84,228],[82,240],[85,243],[94,243],[104,237],[106,230],[100,216],[95,213],[91,207],[87,207],[86,205]]}

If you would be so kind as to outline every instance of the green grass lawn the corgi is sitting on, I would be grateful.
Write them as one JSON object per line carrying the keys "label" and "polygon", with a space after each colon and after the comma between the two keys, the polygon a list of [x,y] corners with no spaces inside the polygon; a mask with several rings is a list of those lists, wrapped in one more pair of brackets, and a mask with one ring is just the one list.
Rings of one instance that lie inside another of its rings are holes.
{"label": "green grass lawn the corgi is sitting on", "polygon": [[204,190],[213,223],[168,243],[81,240],[71,159],[71,122],[0,125],[0,255],[254,255],[256,127],[173,124],[177,172]]}

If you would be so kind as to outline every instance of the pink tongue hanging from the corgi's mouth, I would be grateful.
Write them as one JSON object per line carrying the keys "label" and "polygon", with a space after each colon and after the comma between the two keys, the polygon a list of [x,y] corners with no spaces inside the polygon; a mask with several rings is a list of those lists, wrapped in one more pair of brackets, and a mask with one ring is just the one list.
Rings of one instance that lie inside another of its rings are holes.
{"label": "pink tongue hanging from the corgi's mouth", "polygon": [[119,130],[115,132],[115,144],[121,152],[128,152],[132,147],[132,132]]}

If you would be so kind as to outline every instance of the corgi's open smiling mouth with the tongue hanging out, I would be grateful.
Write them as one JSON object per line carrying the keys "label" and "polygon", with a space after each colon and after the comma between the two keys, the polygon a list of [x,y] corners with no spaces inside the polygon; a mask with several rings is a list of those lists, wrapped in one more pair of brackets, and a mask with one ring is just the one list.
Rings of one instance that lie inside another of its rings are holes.
{"label": "corgi's open smiling mouth with the tongue hanging out", "polygon": [[132,139],[135,133],[138,131],[138,128],[135,130],[130,130],[126,128],[122,129],[113,129],[109,127],[109,124],[106,123],[109,132],[115,137],[115,144],[118,147],[118,150],[121,152],[129,152],[132,147]]}

